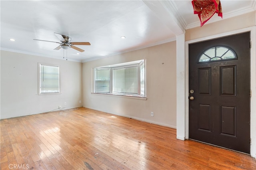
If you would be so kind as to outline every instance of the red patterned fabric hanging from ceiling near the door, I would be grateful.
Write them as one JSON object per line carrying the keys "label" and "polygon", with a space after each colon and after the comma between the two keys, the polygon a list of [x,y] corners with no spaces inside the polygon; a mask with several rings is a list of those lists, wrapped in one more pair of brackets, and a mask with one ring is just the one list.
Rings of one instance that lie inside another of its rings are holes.
{"label": "red patterned fabric hanging from ceiling near the door", "polygon": [[201,27],[217,13],[222,18],[220,0],[192,0],[194,14],[198,14]]}

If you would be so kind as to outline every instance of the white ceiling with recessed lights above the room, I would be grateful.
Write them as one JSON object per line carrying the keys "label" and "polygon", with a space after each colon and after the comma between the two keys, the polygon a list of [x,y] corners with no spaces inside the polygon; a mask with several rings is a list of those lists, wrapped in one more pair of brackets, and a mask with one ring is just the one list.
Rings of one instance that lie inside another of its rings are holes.
{"label": "white ceiling with recessed lights above the room", "polygon": [[[221,4],[222,20],[256,10],[256,0]],[[71,42],[91,43],[76,45],[82,53],[68,49],[68,60],[79,62],[170,42],[200,26],[191,0],[1,0],[0,8],[1,50],[63,59],[63,49],[53,50],[57,43],[33,40],[60,42],[56,32],[70,36]],[[215,14],[208,23],[218,20]]]}

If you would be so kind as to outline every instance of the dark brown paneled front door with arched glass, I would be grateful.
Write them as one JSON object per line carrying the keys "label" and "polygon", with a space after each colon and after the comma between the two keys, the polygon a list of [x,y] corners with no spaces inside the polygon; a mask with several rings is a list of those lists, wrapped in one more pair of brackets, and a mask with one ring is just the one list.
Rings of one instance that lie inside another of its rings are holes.
{"label": "dark brown paneled front door with arched glass", "polygon": [[189,138],[250,154],[250,32],[189,45]]}

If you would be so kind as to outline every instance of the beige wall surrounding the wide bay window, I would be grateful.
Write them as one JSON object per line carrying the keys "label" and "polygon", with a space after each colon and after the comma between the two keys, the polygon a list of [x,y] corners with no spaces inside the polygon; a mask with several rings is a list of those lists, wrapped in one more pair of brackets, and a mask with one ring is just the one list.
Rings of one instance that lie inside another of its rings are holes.
{"label": "beige wall surrounding the wide bay window", "polygon": [[[91,94],[92,68],[140,59],[146,59],[147,100]],[[176,42],[83,63],[83,106],[176,128]]]}

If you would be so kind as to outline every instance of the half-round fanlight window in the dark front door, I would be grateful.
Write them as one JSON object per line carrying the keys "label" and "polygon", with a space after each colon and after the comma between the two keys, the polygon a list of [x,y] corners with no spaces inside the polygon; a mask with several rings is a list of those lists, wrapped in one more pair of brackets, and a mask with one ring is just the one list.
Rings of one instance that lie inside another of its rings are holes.
{"label": "half-round fanlight window in the dark front door", "polygon": [[226,46],[215,46],[200,55],[198,63],[237,59],[236,53]]}

